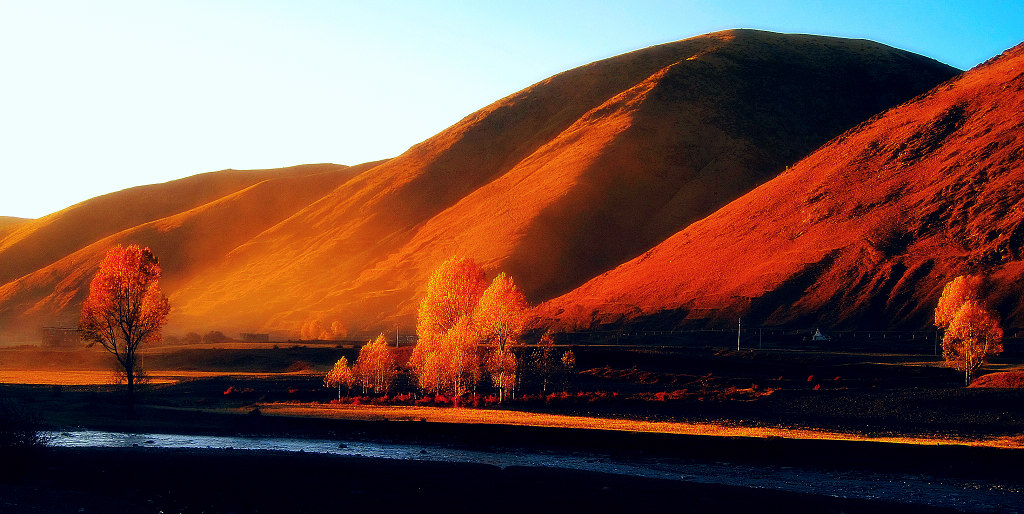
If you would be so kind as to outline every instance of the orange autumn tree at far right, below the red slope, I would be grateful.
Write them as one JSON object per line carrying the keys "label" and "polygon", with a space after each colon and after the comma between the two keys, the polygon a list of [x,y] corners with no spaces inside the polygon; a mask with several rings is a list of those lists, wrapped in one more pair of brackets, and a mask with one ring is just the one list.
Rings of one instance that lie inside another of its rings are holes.
{"label": "orange autumn tree at far right, below the red slope", "polygon": [[942,357],[946,366],[964,373],[971,385],[989,355],[1002,352],[998,316],[981,303],[980,276],[957,276],[942,289],[935,308],[935,326],[945,329]]}

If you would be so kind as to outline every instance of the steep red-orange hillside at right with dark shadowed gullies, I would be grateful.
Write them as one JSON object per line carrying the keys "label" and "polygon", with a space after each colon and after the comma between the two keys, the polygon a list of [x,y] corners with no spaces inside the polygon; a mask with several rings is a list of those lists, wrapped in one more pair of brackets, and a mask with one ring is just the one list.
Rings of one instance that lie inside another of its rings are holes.
{"label": "steep red-orange hillside at right with dark shadowed gullies", "polygon": [[923,329],[943,285],[991,279],[1024,323],[1024,45],[851,129],[542,324]]}

